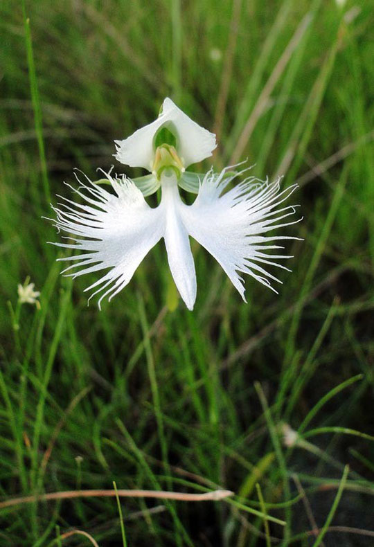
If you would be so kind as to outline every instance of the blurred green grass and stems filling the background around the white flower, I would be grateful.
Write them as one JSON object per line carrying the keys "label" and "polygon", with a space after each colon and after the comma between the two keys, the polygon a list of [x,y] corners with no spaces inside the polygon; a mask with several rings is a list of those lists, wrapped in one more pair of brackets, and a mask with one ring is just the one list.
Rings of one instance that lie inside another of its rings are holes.
{"label": "blurred green grass and stems filling the background around the white flower", "polygon": [[[1,1],[1,546],[373,545],[372,8]],[[192,313],[162,244],[102,312],[59,275],[49,202],[73,168],[123,170],[114,138],[165,96],[217,133],[216,169],[299,183],[279,296],[247,278],[244,305],[197,245]],[[113,481],[235,496],[3,504]]]}

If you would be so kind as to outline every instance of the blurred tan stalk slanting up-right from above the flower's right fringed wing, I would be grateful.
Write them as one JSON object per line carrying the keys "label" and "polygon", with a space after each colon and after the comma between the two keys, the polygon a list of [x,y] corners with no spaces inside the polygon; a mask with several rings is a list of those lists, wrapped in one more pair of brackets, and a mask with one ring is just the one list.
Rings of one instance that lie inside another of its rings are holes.
{"label": "blurred tan stalk slanting up-right from above the flower's right fringed wing", "polygon": [[290,39],[290,42],[287,44],[287,47],[283,51],[283,54],[281,55],[276,66],[274,67],[274,70],[271,72],[271,75],[269,76],[269,79],[267,80],[265,86],[263,87],[260,93],[260,96],[258,97],[258,100],[256,102],[256,105],[251,111],[251,114],[247,120],[247,123],[244,125],[244,128],[238,138],[238,143],[235,146],[235,150],[233,151],[233,154],[231,154],[229,165],[238,163],[240,156],[242,155],[245,147],[247,146],[249,138],[251,138],[253,129],[256,127],[256,123],[258,122],[260,116],[262,115],[263,111],[267,107],[269,96],[274,90],[274,87],[276,86],[276,82],[278,82],[279,78],[281,78],[281,75],[283,74],[285,67],[287,66],[288,62],[290,61],[290,58],[292,57],[292,53],[294,53],[296,47],[301,42],[301,39],[305,33],[305,30],[308,28],[311,20],[312,20],[312,15],[310,13],[307,13],[307,15],[303,17],[301,23],[296,28],[294,35]]}

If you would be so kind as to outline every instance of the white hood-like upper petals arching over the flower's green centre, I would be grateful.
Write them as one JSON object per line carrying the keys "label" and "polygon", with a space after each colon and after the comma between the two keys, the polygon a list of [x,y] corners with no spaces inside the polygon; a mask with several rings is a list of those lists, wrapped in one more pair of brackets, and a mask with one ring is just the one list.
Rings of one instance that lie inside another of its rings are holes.
{"label": "white hood-like upper petals arching over the flower's green centre", "polygon": [[177,152],[185,167],[211,156],[217,146],[215,134],[197,125],[170,98],[166,98],[157,120],[141,127],[123,141],[114,141],[116,159],[130,167],[150,170],[154,158],[154,136],[163,125],[170,126],[170,130],[176,133]]}

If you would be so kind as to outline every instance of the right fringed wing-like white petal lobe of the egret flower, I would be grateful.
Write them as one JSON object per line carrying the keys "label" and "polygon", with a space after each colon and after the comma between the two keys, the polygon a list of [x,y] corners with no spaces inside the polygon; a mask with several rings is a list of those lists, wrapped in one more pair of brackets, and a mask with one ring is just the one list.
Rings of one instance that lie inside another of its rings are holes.
{"label": "right fringed wing-like white petal lobe of the egret flower", "polygon": [[[270,280],[278,283],[281,281],[269,274],[258,262],[287,269],[272,261],[280,258],[279,255],[272,256],[262,252],[267,249],[264,242],[274,242],[283,239],[283,236],[271,237],[264,234],[274,228],[299,222],[299,219],[279,222],[293,215],[295,208],[288,206],[276,209],[290,197],[296,186],[280,191],[279,181],[269,184],[251,177],[222,195],[222,190],[234,177],[235,175],[225,178],[224,171],[220,177],[208,172],[194,204],[181,209],[181,219],[188,233],[221,264],[245,301],[244,284],[238,272],[249,274],[276,292],[271,287]],[[284,239],[296,238],[285,236]],[[274,245],[268,247],[279,248]]]}

